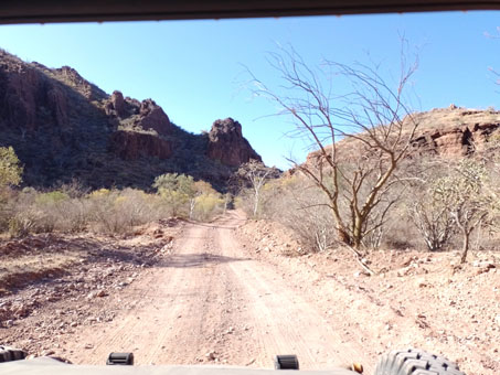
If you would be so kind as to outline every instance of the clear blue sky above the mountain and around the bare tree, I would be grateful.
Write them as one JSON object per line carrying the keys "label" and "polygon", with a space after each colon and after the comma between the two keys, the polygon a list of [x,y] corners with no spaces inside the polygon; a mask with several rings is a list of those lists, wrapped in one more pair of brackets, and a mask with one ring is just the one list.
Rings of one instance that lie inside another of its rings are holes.
{"label": "clear blue sky above the mountain and around the bare tree", "polygon": [[266,117],[274,105],[242,86],[243,65],[278,85],[266,54],[291,45],[311,66],[373,61],[397,74],[404,34],[419,51],[415,109],[487,108],[500,98],[488,69],[500,69],[500,40],[485,33],[498,35],[498,26],[500,12],[2,25],[0,47],[50,67],[70,65],[107,93],[152,98],[192,132],[233,117],[264,161],[285,169],[284,157],[305,159],[305,144],[284,136],[285,118]]}

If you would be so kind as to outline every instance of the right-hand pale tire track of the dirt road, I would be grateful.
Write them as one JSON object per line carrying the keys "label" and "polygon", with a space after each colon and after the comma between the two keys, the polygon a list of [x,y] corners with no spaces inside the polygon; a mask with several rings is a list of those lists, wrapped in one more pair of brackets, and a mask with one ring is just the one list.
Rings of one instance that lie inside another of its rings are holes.
{"label": "right-hand pale tire track of the dirt road", "polygon": [[[233,227],[242,218],[232,213]],[[244,257],[242,245],[234,238],[231,225],[217,231],[222,253]],[[361,347],[342,344],[342,339],[328,324],[313,303],[291,289],[272,265],[258,260],[231,262],[233,282],[243,289],[248,307],[247,324],[253,333],[245,338],[256,347],[256,361],[266,366],[276,354],[297,354],[301,368],[326,369],[342,363],[362,362]],[[366,368],[370,371],[370,368]]]}

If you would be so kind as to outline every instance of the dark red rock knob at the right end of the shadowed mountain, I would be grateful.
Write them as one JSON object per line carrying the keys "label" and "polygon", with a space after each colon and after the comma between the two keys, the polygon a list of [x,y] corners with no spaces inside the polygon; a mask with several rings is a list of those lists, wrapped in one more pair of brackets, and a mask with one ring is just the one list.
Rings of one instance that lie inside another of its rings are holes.
{"label": "dark red rock knob at the right end of the shadowed mountain", "polygon": [[262,161],[260,156],[243,137],[242,125],[232,118],[213,122],[206,156],[230,167],[238,167],[251,159]]}

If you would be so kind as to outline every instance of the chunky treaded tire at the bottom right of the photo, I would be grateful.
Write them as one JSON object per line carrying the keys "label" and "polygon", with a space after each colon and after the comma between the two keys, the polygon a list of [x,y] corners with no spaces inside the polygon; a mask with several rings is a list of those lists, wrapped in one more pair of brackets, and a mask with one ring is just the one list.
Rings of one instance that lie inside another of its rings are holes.
{"label": "chunky treaded tire at the bottom right of the photo", "polygon": [[447,358],[418,349],[392,351],[382,355],[374,375],[465,375]]}

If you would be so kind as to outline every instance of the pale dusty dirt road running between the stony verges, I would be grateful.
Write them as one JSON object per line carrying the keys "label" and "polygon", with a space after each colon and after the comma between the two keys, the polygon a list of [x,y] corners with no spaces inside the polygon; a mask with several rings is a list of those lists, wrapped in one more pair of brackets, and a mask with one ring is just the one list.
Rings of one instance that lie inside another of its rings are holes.
{"label": "pale dusty dirt road running between the stony verges", "polygon": [[111,351],[130,351],[137,364],[270,367],[274,355],[289,353],[304,369],[368,363],[361,347],[341,344],[306,293],[248,258],[234,236],[242,223],[230,212],[213,224],[189,224],[172,254],[123,291],[132,308],[78,332],[72,361],[102,364]]}

